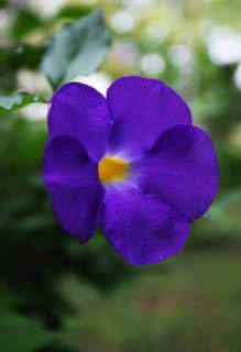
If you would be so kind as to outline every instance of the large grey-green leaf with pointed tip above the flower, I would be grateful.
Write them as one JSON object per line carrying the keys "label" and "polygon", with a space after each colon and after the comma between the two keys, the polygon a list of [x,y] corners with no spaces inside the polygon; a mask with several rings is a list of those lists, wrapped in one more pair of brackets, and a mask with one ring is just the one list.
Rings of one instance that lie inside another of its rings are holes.
{"label": "large grey-green leaf with pointed tip above the flower", "polygon": [[78,76],[94,73],[106,58],[110,35],[102,13],[95,11],[64,25],[48,42],[42,72],[54,89]]}

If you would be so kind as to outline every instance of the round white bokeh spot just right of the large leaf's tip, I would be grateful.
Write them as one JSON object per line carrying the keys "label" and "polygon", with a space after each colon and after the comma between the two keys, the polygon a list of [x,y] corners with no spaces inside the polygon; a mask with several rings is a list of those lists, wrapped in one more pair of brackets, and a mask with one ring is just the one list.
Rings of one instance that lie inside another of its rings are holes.
{"label": "round white bokeh spot just right of the large leaf's tip", "polygon": [[129,33],[134,29],[135,16],[129,11],[119,11],[110,20],[111,28],[119,34]]}

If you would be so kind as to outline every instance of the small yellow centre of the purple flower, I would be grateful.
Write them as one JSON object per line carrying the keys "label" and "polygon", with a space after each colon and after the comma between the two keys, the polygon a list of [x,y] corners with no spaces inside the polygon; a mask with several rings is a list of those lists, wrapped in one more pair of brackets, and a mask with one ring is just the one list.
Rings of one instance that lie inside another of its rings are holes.
{"label": "small yellow centre of the purple flower", "polygon": [[117,157],[103,157],[98,165],[99,179],[102,184],[124,180],[129,174],[130,164]]}

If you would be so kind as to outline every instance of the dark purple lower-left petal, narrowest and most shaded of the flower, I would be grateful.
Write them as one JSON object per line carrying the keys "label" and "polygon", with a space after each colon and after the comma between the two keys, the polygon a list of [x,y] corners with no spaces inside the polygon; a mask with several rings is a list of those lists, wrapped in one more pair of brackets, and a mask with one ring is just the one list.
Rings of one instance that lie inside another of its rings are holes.
{"label": "dark purple lower-left petal, narrowest and most shaded of the flower", "polygon": [[77,140],[57,136],[46,145],[43,176],[62,227],[85,243],[96,231],[103,197],[97,164]]}

